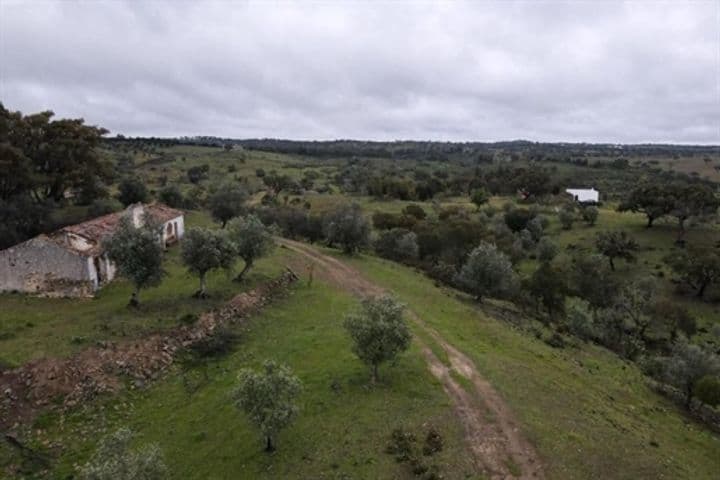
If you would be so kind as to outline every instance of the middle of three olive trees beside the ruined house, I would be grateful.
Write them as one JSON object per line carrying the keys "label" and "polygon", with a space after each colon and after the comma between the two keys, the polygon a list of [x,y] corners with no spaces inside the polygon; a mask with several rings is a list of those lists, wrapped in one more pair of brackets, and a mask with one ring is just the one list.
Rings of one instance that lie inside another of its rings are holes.
{"label": "middle of three olive trees beside the ruined house", "polygon": [[191,228],[183,237],[180,255],[188,271],[200,277],[200,290],[195,296],[205,298],[207,272],[218,268],[230,269],[236,252],[226,232]]}

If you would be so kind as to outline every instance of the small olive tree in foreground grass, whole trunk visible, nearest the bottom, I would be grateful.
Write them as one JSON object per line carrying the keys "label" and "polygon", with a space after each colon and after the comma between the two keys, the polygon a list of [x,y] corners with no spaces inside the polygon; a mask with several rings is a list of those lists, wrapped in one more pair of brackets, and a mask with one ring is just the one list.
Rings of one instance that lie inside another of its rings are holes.
{"label": "small olive tree in foreground grass, whole trunk visible, nearest the bottom", "polygon": [[233,394],[235,406],[260,430],[266,452],[275,450],[278,433],[297,416],[295,399],[301,390],[302,383],[292,371],[271,360],[265,361],[259,372],[240,371]]}

